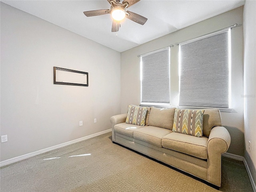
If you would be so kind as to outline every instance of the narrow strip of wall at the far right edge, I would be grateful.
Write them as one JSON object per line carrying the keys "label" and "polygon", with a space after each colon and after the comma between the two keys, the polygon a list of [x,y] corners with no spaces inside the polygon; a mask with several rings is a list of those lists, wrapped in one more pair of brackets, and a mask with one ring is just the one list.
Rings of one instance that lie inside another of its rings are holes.
{"label": "narrow strip of wall at the far right edge", "polygon": [[[244,135],[245,158],[256,184],[256,1],[244,5]],[[249,141],[251,148],[249,150]]]}

